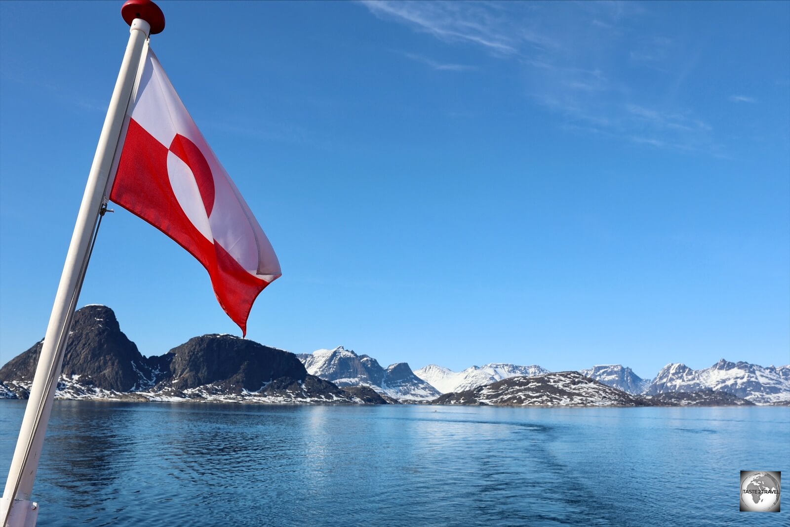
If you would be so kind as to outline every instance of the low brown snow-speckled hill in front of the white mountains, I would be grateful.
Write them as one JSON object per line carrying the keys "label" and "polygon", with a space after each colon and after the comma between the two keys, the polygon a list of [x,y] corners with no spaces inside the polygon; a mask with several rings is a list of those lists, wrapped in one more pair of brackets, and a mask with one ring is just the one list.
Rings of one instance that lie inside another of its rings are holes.
{"label": "low brown snow-speckled hill in front of the white mountains", "polygon": [[577,371],[561,371],[532,377],[511,377],[473,390],[445,393],[438,405],[497,406],[643,406],[634,397],[606,386]]}

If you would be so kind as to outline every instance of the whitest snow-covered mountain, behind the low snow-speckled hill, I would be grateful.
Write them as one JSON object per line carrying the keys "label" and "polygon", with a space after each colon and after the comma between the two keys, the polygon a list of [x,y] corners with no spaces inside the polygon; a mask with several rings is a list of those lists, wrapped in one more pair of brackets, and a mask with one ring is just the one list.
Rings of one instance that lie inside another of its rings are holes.
{"label": "whitest snow-covered mountain, behind the low snow-speckled hill", "polygon": [[540,366],[517,366],[507,363],[488,363],[483,366],[472,366],[464,371],[452,371],[446,367],[428,364],[416,370],[417,377],[427,381],[442,393],[472,390],[477,386],[485,386],[503,378],[544,375],[548,370]]}

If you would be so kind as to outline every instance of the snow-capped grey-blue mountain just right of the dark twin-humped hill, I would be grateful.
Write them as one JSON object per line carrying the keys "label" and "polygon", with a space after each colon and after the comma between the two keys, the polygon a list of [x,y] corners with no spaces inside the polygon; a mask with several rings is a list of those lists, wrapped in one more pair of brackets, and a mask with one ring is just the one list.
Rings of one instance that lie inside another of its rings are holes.
{"label": "snow-capped grey-blue mountain just right of the dark twin-humped hill", "polygon": [[433,399],[440,395],[433,386],[414,375],[407,363],[383,368],[373,357],[357,355],[343,346],[297,357],[304,363],[307,373],[337,386],[369,386],[396,399]]}

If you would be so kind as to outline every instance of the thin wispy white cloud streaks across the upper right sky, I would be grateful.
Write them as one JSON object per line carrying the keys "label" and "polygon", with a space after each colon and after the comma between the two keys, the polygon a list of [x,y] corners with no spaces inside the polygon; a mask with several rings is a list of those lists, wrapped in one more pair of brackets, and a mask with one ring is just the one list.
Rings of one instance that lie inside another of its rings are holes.
{"label": "thin wispy white cloud streaks across the upper right sky", "polygon": [[[720,156],[713,127],[692,109],[674,103],[700,58],[699,51],[680,53],[685,48],[676,36],[634,29],[634,19],[650,16],[641,4],[359,3],[382,20],[404,24],[450,45],[476,47],[493,60],[512,63],[523,80],[527,100],[554,114],[564,130]],[[404,55],[434,70],[472,68]],[[672,57],[675,61],[670,63]],[[626,71],[637,67],[660,72],[664,92],[653,85],[645,87],[639,83],[641,76]],[[737,97],[736,102],[754,102]]]}

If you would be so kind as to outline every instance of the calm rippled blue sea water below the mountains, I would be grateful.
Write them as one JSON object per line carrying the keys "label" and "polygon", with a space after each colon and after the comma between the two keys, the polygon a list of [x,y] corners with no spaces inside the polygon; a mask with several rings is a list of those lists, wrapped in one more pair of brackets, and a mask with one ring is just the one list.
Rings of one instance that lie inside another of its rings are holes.
{"label": "calm rippled blue sea water below the mountains", "polygon": [[739,512],[741,469],[790,484],[790,408],[57,401],[34,492],[40,527],[790,525]]}

